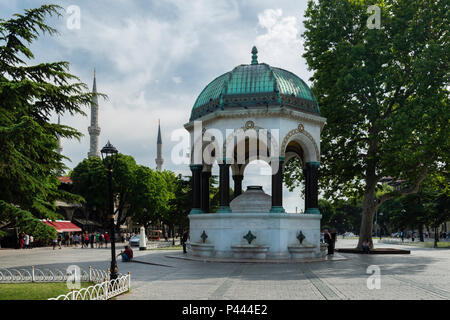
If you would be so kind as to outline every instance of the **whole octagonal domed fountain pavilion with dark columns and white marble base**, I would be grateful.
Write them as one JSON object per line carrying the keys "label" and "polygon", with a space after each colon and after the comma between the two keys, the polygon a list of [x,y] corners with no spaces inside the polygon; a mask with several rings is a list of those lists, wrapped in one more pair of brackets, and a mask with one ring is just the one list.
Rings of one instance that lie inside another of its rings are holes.
{"label": "whole octagonal domed fountain pavilion with dark columns and white marble base", "polygon": [[[325,120],[307,84],[289,71],[259,63],[255,47],[251,64],[208,84],[185,124],[193,187],[188,254],[255,261],[322,257],[317,175]],[[304,213],[283,208],[283,168],[293,157],[303,165]],[[245,168],[255,159],[271,166],[272,196],[260,186],[242,193]],[[220,207],[211,213],[209,180],[216,164]]]}

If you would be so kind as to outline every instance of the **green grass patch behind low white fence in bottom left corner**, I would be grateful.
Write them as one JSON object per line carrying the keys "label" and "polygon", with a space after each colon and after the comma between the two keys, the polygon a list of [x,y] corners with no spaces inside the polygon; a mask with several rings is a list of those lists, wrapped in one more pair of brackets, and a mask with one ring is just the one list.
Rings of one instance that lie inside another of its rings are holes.
{"label": "green grass patch behind low white fence in bottom left corner", "polygon": [[[82,288],[92,285],[94,283],[81,283]],[[0,284],[0,300],[47,300],[69,292],[70,290],[67,289],[65,282]]]}

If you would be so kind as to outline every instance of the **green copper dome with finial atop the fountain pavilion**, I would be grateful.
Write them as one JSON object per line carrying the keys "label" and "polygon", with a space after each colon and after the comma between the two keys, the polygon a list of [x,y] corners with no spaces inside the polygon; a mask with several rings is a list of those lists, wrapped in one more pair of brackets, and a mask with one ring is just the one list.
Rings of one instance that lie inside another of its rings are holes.
{"label": "green copper dome with finial atop the fountain pavilion", "polygon": [[308,85],[292,72],[252,62],[240,65],[209,83],[192,108],[190,121],[217,110],[278,105],[319,114],[319,105]]}

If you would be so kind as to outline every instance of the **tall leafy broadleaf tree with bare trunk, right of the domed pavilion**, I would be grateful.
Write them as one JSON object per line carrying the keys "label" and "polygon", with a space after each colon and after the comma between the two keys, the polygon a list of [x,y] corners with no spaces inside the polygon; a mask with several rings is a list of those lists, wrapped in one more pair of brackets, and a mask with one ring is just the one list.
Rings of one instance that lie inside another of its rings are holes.
{"label": "tall leafy broadleaf tree with bare trunk, right of the domed pavilion", "polygon": [[[367,27],[371,5],[380,8],[380,29]],[[328,198],[363,198],[358,248],[365,240],[373,246],[381,204],[416,193],[448,166],[448,7],[442,0],[308,3],[304,57],[327,118],[320,184]],[[403,184],[378,197],[387,176]]]}

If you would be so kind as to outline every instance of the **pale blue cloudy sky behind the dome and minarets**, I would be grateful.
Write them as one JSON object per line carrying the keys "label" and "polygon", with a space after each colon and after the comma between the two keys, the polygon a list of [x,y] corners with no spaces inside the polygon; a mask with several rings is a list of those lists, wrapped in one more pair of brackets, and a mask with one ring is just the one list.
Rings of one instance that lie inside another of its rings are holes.
{"label": "pale blue cloudy sky behind the dome and minarets", "polygon": [[[172,134],[184,130],[197,96],[210,81],[251,62],[253,45],[259,62],[290,70],[309,83],[311,72],[301,57],[306,0],[0,0],[0,17],[44,3],[66,10],[76,5],[80,24],[78,28],[76,11],[50,19],[59,35],[33,44],[32,63],[69,61],[71,73],[90,88],[95,68],[98,91],[109,97],[99,101],[99,147],[110,140],[121,153],[151,168],[161,119],[164,168],[190,174],[188,166],[171,161],[177,144]],[[66,164],[73,168],[89,151],[89,117],[64,115],[61,122],[84,134],[79,142],[62,141],[63,153],[71,159]],[[244,188],[259,184],[270,194],[270,176],[260,172],[258,165],[250,165]],[[298,190],[284,191],[284,207],[303,210]]]}

